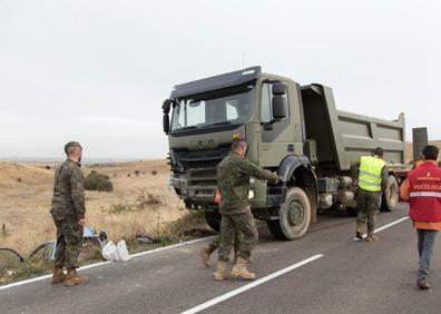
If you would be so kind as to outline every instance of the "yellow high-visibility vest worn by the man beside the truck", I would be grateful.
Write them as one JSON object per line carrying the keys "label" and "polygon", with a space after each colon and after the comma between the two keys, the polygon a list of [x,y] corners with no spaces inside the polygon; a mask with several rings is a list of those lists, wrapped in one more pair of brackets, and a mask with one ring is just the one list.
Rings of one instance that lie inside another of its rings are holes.
{"label": "yellow high-visibility vest worn by the man beside the truck", "polygon": [[361,157],[359,170],[359,186],[369,192],[381,190],[381,170],[385,161],[371,156]]}

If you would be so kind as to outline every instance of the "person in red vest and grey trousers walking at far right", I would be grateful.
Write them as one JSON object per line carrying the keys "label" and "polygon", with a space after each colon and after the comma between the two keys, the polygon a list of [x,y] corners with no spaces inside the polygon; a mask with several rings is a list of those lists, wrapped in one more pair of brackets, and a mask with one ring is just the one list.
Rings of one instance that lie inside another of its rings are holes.
{"label": "person in red vest and grey trousers walking at far right", "polygon": [[423,163],[409,173],[400,187],[401,198],[410,202],[409,215],[418,233],[420,256],[416,284],[430,288],[430,259],[438,230],[441,229],[441,168],[437,165],[439,150],[429,145],[423,148]]}

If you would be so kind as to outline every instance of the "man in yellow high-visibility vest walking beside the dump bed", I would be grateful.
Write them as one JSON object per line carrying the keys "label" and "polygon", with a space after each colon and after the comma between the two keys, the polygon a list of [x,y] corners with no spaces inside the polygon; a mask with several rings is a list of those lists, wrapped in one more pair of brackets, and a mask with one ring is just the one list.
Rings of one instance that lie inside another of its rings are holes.
{"label": "man in yellow high-visibility vest walking beside the dump bed", "polygon": [[[374,235],[375,215],[380,212],[382,190],[388,184],[388,167],[382,159],[383,148],[376,147],[373,156],[363,156],[355,167],[359,168],[359,190],[356,195],[356,218],[355,237],[362,239],[362,227],[367,223],[367,242],[379,238]],[[367,218],[367,222],[366,222]]]}

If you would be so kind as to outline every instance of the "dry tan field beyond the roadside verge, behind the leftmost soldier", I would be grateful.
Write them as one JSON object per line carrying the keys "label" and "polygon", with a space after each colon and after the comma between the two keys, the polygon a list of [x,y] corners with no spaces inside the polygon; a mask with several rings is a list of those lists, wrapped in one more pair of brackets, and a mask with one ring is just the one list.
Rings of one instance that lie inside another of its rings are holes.
{"label": "dry tan field beyond the roadside verge, behind the leftmost soldier", "polygon": [[[187,213],[168,187],[166,160],[86,166],[85,175],[92,169],[109,176],[115,189],[86,192],[87,225],[105,230],[112,241],[157,236]],[[0,161],[0,247],[27,255],[55,238],[49,214],[53,171],[50,164]]]}

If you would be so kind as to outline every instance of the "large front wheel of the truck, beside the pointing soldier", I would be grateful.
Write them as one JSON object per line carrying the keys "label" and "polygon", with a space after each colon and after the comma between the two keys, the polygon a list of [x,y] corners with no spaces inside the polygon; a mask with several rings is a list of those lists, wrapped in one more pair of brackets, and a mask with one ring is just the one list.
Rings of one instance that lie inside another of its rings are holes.
{"label": "large front wheel of the truck, beside the pointing soldier", "polygon": [[270,232],[276,238],[296,239],[306,233],[311,222],[311,204],[303,189],[288,189],[278,215],[278,220],[267,220]]}

